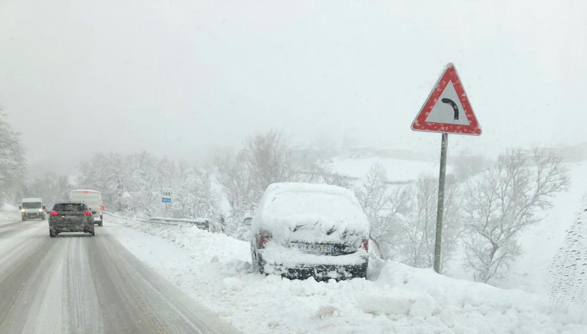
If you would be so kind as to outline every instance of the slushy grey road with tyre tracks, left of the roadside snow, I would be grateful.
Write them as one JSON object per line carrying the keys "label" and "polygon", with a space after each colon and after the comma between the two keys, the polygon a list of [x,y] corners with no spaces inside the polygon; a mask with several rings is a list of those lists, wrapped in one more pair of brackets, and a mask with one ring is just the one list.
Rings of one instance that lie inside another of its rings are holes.
{"label": "slushy grey road with tyre tracks, left of the roadside snow", "polygon": [[234,333],[122,247],[50,238],[47,221],[0,224],[0,333]]}

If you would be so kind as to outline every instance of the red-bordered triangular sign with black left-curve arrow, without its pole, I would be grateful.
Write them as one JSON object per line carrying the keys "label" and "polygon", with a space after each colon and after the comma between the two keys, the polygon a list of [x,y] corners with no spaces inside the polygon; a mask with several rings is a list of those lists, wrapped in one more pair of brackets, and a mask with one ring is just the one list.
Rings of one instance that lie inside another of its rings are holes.
{"label": "red-bordered triangular sign with black left-curve arrow, without its pole", "polygon": [[444,70],[412,122],[411,129],[475,136],[481,134],[481,127],[453,64],[448,64]]}

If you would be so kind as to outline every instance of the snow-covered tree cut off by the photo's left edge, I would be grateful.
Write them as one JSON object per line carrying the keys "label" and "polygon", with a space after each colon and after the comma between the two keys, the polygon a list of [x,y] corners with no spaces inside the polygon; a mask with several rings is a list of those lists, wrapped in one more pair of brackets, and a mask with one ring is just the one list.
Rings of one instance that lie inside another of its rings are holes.
{"label": "snow-covered tree cut off by the photo's left edge", "polygon": [[5,120],[0,108],[0,206],[6,199],[14,200],[26,171],[20,134]]}

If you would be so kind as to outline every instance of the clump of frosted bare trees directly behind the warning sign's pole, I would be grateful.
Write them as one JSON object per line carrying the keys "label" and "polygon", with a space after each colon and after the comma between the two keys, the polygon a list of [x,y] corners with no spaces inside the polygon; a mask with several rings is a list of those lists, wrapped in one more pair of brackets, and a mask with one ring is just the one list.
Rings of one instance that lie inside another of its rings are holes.
{"label": "clump of frosted bare trees directly behind the warning sign's pole", "polygon": [[[461,231],[458,189],[457,181],[449,175],[444,199],[443,261],[456,248]],[[433,265],[438,179],[420,176],[413,184],[390,186],[382,166],[375,164],[355,192],[369,218],[370,240],[379,257],[414,267]]]}

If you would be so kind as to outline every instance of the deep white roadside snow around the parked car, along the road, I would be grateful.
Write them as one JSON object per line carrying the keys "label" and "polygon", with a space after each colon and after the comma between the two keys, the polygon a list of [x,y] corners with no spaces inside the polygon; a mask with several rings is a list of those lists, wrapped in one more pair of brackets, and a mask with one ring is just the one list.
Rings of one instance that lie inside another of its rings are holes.
{"label": "deep white roadside snow around the parked car, along the road", "polygon": [[246,242],[196,227],[112,221],[132,229],[104,232],[244,333],[587,333],[578,310],[551,310],[537,294],[393,261],[372,261],[370,281],[265,277],[251,273]]}

